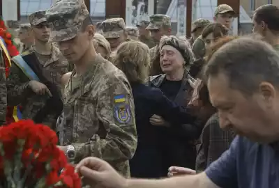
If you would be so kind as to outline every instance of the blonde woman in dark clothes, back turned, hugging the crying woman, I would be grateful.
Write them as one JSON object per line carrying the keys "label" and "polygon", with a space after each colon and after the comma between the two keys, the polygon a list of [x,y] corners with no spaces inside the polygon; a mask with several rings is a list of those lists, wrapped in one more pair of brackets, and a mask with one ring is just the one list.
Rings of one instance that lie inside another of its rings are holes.
{"label": "blonde woman in dark clothes, back turned, hugging the crying woman", "polygon": [[[114,65],[126,75],[133,91],[138,145],[130,160],[130,173],[134,178],[160,178],[163,176],[162,152],[160,150],[160,127],[151,125],[153,114],[163,116],[174,124],[195,120],[186,109],[169,100],[158,88],[146,86],[149,75],[149,47],[139,41],[123,42],[116,50]],[[167,169],[165,169],[167,171]],[[166,173],[165,173],[166,175]]]}

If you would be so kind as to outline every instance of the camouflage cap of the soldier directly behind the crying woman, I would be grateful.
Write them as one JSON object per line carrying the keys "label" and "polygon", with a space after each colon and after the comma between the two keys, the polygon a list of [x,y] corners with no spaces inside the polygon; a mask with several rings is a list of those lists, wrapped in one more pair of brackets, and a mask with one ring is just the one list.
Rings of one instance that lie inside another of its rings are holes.
{"label": "camouflage cap of the soldier directly behind the crying woman", "polygon": [[160,29],[162,26],[171,26],[170,17],[168,15],[151,15],[149,26],[146,29]]}

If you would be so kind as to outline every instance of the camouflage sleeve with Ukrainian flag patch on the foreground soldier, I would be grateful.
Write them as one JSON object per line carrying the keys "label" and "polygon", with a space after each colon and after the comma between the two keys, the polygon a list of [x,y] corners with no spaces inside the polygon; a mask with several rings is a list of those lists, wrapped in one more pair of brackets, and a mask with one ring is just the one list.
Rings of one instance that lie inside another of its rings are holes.
{"label": "camouflage sleeve with Ukrainian flag patch on the foreground soldier", "polygon": [[137,132],[130,86],[124,78],[116,78],[109,85],[105,91],[99,93],[97,104],[98,120],[107,133],[105,139],[93,139],[89,144],[74,143],[75,162],[89,156],[100,157],[112,163],[124,162],[135,153]]}

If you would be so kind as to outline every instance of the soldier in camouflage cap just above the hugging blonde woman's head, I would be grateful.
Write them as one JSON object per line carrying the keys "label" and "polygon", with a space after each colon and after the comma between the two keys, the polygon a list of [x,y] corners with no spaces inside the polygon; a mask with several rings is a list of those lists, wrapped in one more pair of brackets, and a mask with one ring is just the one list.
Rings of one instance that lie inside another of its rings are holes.
{"label": "soldier in camouflage cap just above the hugging blonde woman's head", "polygon": [[116,54],[116,48],[122,42],[129,40],[128,33],[126,31],[126,24],[123,18],[116,17],[106,19],[104,22],[102,22],[100,28],[103,31],[103,36],[105,39],[110,42],[112,53],[110,54],[110,58],[108,58],[108,60],[112,62],[112,58]]}

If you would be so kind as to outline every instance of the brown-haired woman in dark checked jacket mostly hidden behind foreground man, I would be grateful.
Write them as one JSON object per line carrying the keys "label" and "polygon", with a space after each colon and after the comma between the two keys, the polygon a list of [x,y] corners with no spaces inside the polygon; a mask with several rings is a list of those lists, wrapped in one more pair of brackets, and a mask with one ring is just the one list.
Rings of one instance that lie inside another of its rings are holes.
{"label": "brown-haired woman in dark checked jacket mostly hidden behind foreground man", "polygon": [[[225,36],[212,42],[210,47],[207,47],[206,61],[209,61],[211,56],[220,49],[223,45],[231,42],[236,37]],[[232,143],[236,134],[233,130],[222,130],[219,125],[219,118],[216,108],[214,108],[209,100],[209,91],[206,83],[202,79],[197,79],[193,83],[193,96],[188,105],[193,105],[199,109],[199,113],[203,113],[207,120],[201,134],[201,144],[197,147],[197,159],[195,171],[204,171],[209,164],[218,159],[225,152],[230,143]],[[193,173],[189,169],[179,166],[171,166],[169,168],[169,176],[182,175]]]}

